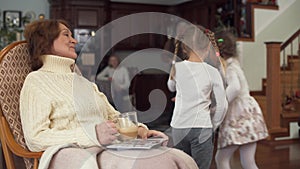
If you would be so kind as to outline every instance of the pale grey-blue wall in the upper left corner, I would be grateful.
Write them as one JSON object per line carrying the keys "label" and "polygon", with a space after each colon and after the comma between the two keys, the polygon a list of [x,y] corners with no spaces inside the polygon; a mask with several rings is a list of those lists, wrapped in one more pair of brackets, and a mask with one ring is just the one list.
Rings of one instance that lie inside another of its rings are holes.
{"label": "pale grey-blue wall in the upper left corner", "polygon": [[48,0],[0,0],[0,20],[3,20],[5,10],[22,11],[23,16],[26,12],[33,11],[36,17],[44,14],[46,19],[49,18]]}

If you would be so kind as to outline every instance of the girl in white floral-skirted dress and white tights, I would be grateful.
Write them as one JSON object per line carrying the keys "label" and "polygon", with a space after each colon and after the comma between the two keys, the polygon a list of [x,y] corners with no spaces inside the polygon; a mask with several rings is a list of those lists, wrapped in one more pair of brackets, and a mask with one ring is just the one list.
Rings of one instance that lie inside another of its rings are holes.
{"label": "girl in white floral-skirted dress and white tights", "polygon": [[226,95],[229,103],[226,117],[219,128],[218,169],[230,169],[230,159],[240,150],[244,169],[257,169],[256,143],[268,136],[261,109],[250,96],[249,87],[236,54],[236,39],[229,31],[216,34],[221,56],[226,60]]}

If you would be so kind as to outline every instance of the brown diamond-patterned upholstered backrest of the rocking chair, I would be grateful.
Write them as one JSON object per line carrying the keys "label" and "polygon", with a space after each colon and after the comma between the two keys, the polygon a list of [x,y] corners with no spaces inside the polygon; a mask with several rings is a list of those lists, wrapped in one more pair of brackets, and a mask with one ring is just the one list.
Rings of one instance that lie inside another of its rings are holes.
{"label": "brown diamond-patterned upholstered backrest of the rocking chair", "polygon": [[[26,148],[22,131],[19,98],[24,80],[31,72],[29,52],[26,43],[12,48],[0,63],[0,104],[17,143]],[[32,168],[29,159],[24,159],[26,168]]]}

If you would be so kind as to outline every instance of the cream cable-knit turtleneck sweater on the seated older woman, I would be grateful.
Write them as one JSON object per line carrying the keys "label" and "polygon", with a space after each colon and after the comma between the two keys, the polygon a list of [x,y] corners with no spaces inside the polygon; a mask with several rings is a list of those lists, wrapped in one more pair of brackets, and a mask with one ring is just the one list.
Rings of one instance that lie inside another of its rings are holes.
{"label": "cream cable-knit turtleneck sweater on the seated older woman", "polygon": [[119,114],[94,83],[73,73],[70,58],[44,55],[43,66],[31,72],[20,95],[21,121],[31,151],[76,144],[99,146],[95,125]]}

